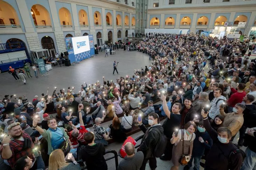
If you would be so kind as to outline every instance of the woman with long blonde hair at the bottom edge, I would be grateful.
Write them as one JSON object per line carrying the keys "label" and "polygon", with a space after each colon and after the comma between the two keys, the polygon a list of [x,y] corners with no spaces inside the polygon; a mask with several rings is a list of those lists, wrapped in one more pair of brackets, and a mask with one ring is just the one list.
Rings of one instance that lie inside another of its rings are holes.
{"label": "woman with long blonde hair at the bottom edge", "polygon": [[60,149],[54,150],[49,157],[48,170],[81,170],[73,155],[71,157],[73,163],[67,163],[67,159],[68,155],[65,157]]}

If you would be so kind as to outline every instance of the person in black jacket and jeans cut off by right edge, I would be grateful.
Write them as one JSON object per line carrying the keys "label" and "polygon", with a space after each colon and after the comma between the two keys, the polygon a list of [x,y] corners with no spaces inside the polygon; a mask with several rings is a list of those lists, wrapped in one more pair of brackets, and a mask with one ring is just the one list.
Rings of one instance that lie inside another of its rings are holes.
{"label": "person in black jacket and jeans cut off by right edge", "polygon": [[254,169],[256,166],[255,155],[256,155],[256,127],[248,129],[244,146],[247,147],[245,150],[246,157],[244,159],[241,170]]}

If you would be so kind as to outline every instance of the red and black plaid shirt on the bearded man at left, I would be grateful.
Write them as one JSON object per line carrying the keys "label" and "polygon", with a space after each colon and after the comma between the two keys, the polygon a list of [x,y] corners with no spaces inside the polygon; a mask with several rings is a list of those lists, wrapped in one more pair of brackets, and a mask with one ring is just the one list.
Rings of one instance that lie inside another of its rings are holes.
{"label": "red and black plaid shirt on the bearded man at left", "polygon": [[[12,138],[12,140],[10,141],[10,149],[12,151],[12,156],[9,159],[7,159],[12,169],[14,168],[14,164],[16,163],[16,161],[23,156],[27,155],[28,157],[34,160],[34,157],[32,155],[33,153],[32,148],[34,148],[34,143],[32,142],[31,137],[26,132],[22,131],[22,136],[23,138],[29,138],[31,140],[31,147],[25,150],[22,150],[24,141]],[[2,151],[3,151],[3,145],[1,145],[1,149],[0,149],[1,155],[2,155]]]}

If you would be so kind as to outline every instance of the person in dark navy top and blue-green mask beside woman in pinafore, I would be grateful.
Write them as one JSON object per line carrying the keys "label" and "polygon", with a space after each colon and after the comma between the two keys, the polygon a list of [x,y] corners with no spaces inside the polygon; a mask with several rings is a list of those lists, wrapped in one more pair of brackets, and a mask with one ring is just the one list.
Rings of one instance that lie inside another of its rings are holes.
{"label": "person in dark navy top and blue-green mask beside woman in pinafore", "polygon": [[211,149],[212,147],[212,138],[210,135],[205,131],[203,126],[203,121],[200,121],[197,126],[197,131],[195,132],[196,138],[193,142],[193,152],[190,161],[184,167],[183,170],[189,170],[192,167],[192,162],[194,159],[194,170],[199,170],[200,168],[200,160],[204,154],[205,149]]}

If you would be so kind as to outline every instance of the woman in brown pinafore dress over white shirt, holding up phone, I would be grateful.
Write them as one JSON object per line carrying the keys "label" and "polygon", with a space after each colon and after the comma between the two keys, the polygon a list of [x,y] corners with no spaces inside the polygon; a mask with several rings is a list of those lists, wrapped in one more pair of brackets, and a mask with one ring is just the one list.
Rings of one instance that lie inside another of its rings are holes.
{"label": "woman in brown pinafore dress over white shirt, holding up phone", "polygon": [[180,159],[182,155],[189,154],[191,158],[192,150],[193,150],[193,142],[196,138],[195,131],[197,129],[197,125],[193,121],[189,121],[185,124],[184,129],[180,129],[177,133],[173,132],[171,143],[174,144],[172,149],[172,163],[173,166],[171,170],[178,170],[180,164]]}

